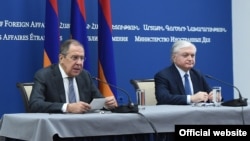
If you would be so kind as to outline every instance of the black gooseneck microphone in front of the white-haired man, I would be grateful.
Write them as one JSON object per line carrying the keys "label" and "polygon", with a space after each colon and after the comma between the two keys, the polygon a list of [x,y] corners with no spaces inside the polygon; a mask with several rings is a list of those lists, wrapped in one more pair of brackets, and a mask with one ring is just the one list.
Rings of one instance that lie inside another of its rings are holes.
{"label": "black gooseneck microphone in front of the white-haired man", "polygon": [[242,95],[240,93],[240,90],[236,86],[234,86],[232,84],[229,84],[229,83],[227,83],[225,81],[219,80],[219,79],[217,79],[215,77],[212,77],[210,75],[205,75],[205,77],[216,80],[216,81],[221,82],[223,84],[226,84],[226,85],[228,85],[230,87],[233,87],[233,88],[235,88],[237,90],[237,92],[239,94],[239,98],[229,100],[229,101],[225,101],[225,102],[221,103],[222,106],[231,106],[231,107],[247,106],[247,98],[242,97]]}

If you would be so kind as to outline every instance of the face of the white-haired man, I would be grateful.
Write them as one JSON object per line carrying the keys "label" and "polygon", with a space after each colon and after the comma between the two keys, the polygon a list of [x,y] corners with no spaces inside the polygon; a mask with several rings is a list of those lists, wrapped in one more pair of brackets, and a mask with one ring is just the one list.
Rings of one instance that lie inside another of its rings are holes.
{"label": "face of the white-haired man", "polygon": [[188,71],[195,65],[196,50],[193,47],[181,48],[172,56],[173,62],[182,70]]}

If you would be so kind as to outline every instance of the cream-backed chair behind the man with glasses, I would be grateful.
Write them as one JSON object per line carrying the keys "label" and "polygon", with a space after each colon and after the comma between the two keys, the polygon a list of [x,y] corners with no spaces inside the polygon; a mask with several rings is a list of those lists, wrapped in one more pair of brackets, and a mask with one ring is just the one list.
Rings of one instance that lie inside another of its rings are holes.
{"label": "cream-backed chair behind the man with glasses", "polygon": [[33,85],[34,85],[33,82],[24,82],[24,83],[18,82],[16,84],[17,88],[21,92],[26,113],[29,113],[30,111],[29,110],[29,98],[30,98]]}

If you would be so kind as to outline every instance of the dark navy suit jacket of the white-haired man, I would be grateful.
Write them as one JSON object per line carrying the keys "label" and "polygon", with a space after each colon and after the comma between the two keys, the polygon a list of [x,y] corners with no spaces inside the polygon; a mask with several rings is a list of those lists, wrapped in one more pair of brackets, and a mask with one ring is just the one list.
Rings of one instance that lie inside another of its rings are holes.
{"label": "dark navy suit jacket of the white-haired man", "polygon": [[[194,93],[205,91],[209,93],[212,89],[209,87],[204,76],[195,69],[190,70],[190,78],[193,84]],[[159,71],[154,76],[155,95],[157,104],[187,104],[187,96],[180,73],[174,64]]]}

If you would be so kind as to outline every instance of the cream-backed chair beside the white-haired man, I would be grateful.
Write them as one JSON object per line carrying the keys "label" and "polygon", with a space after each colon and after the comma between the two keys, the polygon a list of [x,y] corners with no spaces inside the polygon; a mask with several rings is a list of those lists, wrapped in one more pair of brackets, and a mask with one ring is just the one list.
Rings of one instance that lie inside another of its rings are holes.
{"label": "cream-backed chair beside the white-haired man", "polygon": [[145,90],[145,105],[156,105],[154,79],[131,79],[130,84],[137,89]]}

